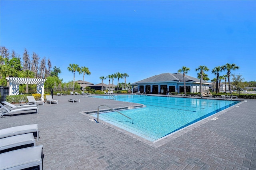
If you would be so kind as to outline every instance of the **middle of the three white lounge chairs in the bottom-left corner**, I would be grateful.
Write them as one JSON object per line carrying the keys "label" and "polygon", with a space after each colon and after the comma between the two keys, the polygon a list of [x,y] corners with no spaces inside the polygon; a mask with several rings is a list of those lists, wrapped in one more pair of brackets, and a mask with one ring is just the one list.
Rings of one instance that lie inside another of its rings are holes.
{"label": "middle of the three white lounge chairs in the bottom-left corner", "polygon": [[32,146],[36,146],[33,133],[9,136],[0,139],[0,154]]}

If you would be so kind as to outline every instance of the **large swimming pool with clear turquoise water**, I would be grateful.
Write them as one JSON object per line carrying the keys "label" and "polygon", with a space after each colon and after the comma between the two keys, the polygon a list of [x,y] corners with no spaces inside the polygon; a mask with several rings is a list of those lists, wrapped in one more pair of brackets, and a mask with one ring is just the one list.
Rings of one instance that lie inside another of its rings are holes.
{"label": "large swimming pool with clear turquoise water", "polygon": [[[150,141],[158,140],[239,102],[147,95],[114,97],[118,101],[140,103],[146,107],[121,111],[134,119],[134,124],[130,119],[116,112],[100,113],[100,119]],[[108,96],[96,96],[96,98],[108,99]]]}

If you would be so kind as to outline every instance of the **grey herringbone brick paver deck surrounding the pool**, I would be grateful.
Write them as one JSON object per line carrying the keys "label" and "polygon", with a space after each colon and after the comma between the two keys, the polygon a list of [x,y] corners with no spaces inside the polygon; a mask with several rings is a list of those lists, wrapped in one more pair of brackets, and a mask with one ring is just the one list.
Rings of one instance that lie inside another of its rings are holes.
{"label": "grey herringbone brick paver deck surrounding the pool", "polygon": [[[136,103],[90,97],[54,96],[58,104],[40,105],[39,114],[0,119],[0,128],[39,124],[44,170],[84,169],[256,169],[256,100],[248,99],[150,142],[125,130],[95,123],[84,112],[98,105],[113,108]],[[68,102],[68,99],[80,99]],[[102,107],[102,109],[104,109]],[[212,120],[214,117],[218,119]]]}

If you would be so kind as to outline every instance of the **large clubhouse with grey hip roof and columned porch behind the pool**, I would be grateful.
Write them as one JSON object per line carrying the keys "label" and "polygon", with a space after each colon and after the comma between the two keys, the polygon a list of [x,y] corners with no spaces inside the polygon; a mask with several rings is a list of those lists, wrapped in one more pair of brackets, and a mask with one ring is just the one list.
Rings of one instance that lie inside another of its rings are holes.
{"label": "large clubhouse with grey hip roof and columned porch behind the pool", "polygon": [[[200,79],[185,75],[186,93],[199,93],[200,92]],[[211,83],[202,81],[202,90],[209,89]],[[147,94],[166,94],[169,92],[184,92],[183,74],[181,73],[162,73],[154,75],[144,80],[132,83],[135,89],[137,86],[140,93],[146,92]]]}

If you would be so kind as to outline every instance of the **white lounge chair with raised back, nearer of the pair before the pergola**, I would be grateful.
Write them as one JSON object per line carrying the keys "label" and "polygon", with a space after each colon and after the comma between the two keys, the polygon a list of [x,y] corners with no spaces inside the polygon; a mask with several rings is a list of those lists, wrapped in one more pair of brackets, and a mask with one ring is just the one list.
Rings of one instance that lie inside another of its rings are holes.
{"label": "white lounge chair with raised back, nearer of the pair before the pergola", "polygon": [[14,114],[21,114],[24,112],[26,113],[26,111],[32,111],[32,110],[35,110],[36,113],[38,114],[38,107],[17,107],[17,108],[8,109],[1,103],[0,103],[0,106],[4,109],[3,111],[0,112],[0,117],[12,116]]}

